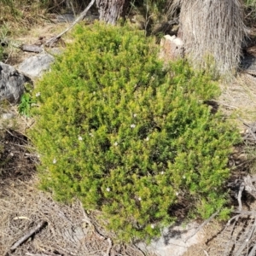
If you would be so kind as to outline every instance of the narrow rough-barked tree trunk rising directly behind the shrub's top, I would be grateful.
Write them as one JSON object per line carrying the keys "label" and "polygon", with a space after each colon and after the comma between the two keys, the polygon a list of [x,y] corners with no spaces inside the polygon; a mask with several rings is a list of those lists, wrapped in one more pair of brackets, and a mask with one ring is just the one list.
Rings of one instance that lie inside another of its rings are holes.
{"label": "narrow rough-barked tree trunk rising directly behind the shrub's top", "polygon": [[129,4],[129,0],[97,0],[96,3],[100,13],[100,20],[114,25],[120,16],[125,16],[125,9]]}

